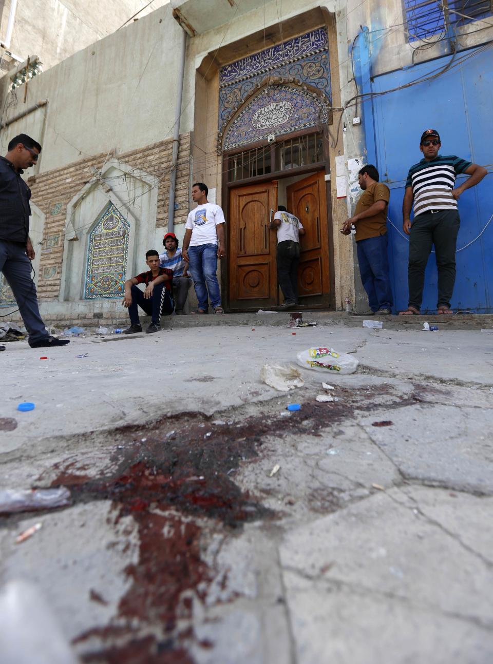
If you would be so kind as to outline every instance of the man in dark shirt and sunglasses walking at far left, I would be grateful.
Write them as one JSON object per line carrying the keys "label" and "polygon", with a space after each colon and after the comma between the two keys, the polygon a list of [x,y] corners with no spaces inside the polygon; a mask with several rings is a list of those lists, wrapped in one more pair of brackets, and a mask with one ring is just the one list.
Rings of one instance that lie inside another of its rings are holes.
{"label": "man in dark shirt and sunglasses walking at far left", "polygon": [[31,348],[64,346],[68,339],[55,339],[47,332],[31,278],[31,260],[35,258],[29,238],[31,190],[21,174],[38,161],[41,145],[21,133],[10,141],[7,149],[5,157],[0,157],[0,272],[17,301]]}

